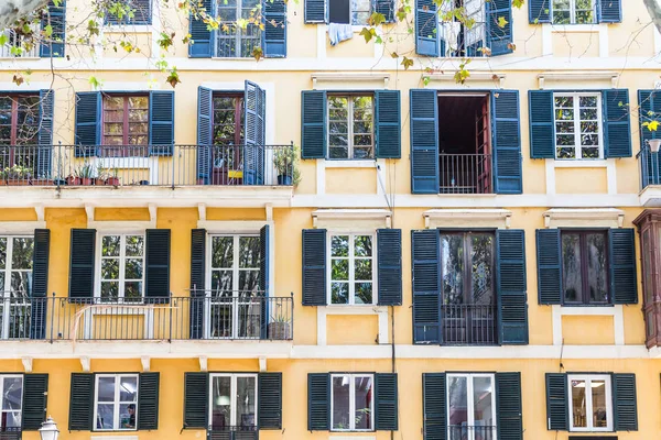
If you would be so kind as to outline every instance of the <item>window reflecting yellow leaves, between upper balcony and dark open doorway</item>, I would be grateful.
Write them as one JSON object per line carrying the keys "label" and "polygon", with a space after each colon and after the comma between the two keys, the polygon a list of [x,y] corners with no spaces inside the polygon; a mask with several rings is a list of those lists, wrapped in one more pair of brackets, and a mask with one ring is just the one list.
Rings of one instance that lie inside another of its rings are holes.
{"label": "window reflecting yellow leaves, between upper balcony and dark open doorway", "polygon": [[375,156],[373,97],[328,96],[328,157]]}

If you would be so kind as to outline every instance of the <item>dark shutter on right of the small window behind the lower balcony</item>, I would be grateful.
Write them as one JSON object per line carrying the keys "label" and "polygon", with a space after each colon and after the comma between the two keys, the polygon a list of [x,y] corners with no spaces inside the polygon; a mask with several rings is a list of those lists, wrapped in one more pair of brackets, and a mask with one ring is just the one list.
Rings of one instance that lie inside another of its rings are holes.
{"label": "dark shutter on right of the small window behind the lower balcony", "polygon": [[170,298],[170,229],[148,229],[145,233],[144,296]]}

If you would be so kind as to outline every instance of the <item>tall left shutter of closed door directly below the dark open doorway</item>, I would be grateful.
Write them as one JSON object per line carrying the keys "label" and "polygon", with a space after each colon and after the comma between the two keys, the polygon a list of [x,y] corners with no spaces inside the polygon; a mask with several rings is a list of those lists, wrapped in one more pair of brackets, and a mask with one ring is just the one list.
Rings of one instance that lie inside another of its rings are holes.
{"label": "tall left shutter of closed door directly below the dark open doorway", "polygon": [[435,229],[411,231],[413,343],[441,342],[441,254]]}

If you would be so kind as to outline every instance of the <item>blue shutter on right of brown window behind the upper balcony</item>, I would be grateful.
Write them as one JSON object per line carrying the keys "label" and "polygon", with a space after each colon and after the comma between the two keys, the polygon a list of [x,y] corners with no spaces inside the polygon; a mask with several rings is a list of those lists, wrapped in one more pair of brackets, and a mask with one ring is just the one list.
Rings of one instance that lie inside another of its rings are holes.
{"label": "blue shutter on right of brown window behind the upper balcony", "polygon": [[174,91],[149,92],[149,154],[171,156],[174,152]]}

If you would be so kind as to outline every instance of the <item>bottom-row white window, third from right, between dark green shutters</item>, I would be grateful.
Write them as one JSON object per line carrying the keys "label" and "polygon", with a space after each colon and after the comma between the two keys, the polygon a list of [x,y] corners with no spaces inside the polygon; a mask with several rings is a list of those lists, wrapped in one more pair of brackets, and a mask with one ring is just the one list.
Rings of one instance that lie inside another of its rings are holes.
{"label": "bottom-row white window, third from right, between dark green shutters", "polygon": [[373,375],[333,374],[330,382],[330,430],[372,431]]}

